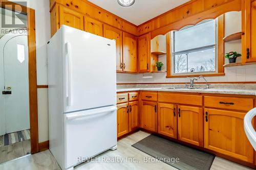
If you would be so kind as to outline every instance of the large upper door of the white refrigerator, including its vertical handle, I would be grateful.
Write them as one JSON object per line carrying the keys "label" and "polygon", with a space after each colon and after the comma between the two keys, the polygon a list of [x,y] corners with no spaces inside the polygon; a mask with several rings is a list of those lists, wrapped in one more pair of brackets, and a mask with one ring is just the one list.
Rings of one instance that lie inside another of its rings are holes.
{"label": "large upper door of the white refrigerator, including its vertical handle", "polygon": [[64,112],[116,105],[116,45],[62,26]]}

